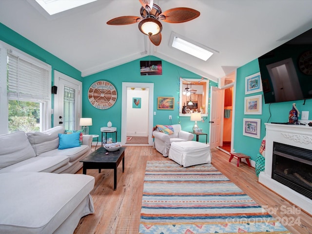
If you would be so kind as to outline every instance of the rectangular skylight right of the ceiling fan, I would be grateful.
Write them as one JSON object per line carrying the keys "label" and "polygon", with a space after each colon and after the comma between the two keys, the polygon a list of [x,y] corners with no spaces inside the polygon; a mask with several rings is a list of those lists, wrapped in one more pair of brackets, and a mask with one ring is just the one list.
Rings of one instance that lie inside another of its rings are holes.
{"label": "rectangular skylight right of the ceiling fan", "polygon": [[181,36],[175,34],[174,32],[170,41],[172,41],[172,47],[204,61],[207,61],[215,52],[218,53],[218,51],[212,49],[208,50],[208,47],[200,45],[199,43],[182,39]]}

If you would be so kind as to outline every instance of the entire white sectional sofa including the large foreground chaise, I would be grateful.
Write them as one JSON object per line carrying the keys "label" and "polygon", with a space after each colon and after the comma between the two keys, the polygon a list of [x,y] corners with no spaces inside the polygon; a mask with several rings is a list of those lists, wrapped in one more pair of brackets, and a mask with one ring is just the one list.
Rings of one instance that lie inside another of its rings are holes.
{"label": "entire white sectional sofa including the large foreground chaise", "polygon": [[0,136],[0,233],[70,234],[94,213],[94,177],[73,175],[91,152],[92,137],[60,150],[63,133],[59,126]]}

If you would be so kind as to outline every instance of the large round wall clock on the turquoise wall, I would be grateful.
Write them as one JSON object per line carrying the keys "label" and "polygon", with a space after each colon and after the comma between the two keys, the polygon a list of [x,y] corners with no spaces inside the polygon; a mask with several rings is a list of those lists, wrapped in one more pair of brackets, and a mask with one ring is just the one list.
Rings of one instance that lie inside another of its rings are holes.
{"label": "large round wall clock on the turquoise wall", "polygon": [[114,85],[105,80],[94,82],[88,90],[88,99],[98,109],[108,109],[117,100],[117,91]]}

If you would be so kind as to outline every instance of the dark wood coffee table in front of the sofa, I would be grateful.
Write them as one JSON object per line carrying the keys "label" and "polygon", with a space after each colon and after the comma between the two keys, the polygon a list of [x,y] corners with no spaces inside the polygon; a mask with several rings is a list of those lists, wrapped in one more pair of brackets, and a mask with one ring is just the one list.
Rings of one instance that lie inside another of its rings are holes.
{"label": "dark wood coffee table in front of the sofa", "polygon": [[[87,174],[87,169],[114,169],[114,190],[117,187],[117,167],[122,160],[122,172],[125,168],[125,147],[120,147],[117,151],[107,151],[104,147],[100,147],[92,152],[89,156],[83,158],[82,173]],[[108,155],[105,155],[108,153]]]}

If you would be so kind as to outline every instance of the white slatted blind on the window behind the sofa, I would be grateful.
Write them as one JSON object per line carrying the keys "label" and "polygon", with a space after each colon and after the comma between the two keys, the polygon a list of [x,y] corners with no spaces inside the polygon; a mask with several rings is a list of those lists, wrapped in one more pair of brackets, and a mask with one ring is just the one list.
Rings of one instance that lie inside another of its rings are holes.
{"label": "white slatted blind on the window behind the sofa", "polygon": [[50,100],[49,65],[40,66],[8,51],[8,98]]}

